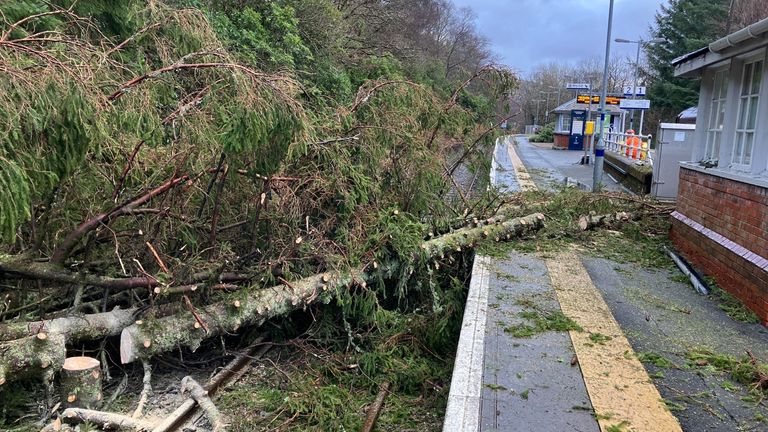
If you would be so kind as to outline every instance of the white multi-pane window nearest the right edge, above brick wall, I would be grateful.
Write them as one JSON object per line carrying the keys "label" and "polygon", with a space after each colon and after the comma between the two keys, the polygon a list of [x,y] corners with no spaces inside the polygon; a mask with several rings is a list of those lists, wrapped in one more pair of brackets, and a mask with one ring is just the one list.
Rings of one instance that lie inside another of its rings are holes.
{"label": "white multi-pane window nearest the right edge, above brick wall", "polygon": [[[760,73],[755,74],[755,65],[760,64]],[[752,66],[750,71],[751,74],[749,77],[745,76],[747,72],[747,66]],[[736,123],[735,123],[735,132],[733,135],[733,146],[731,151],[731,168],[737,171],[750,171],[752,168],[752,161],[754,160],[755,155],[755,148],[756,148],[756,131],[758,127],[758,121],[760,119],[760,90],[763,86],[763,72],[765,70],[765,56],[764,54],[760,54],[759,56],[752,57],[750,59],[747,59],[744,61],[744,63],[741,65],[741,71],[739,72],[739,86],[738,86],[738,94],[734,95],[737,102],[737,113],[736,113]],[[754,84],[754,78],[756,76],[760,77],[760,85],[756,90],[753,90],[753,84]],[[748,88],[747,93],[744,94],[744,89]],[[749,111],[750,108],[756,105],[755,107],[755,120],[754,124],[752,125],[752,128],[747,128],[747,124],[749,123]],[[746,110],[746,112],[745,112]],[[742,115],[744,115],[744,123],[742,124],[741,118]],[[750,142],[750,148],[749,148],[749,160],[747,159],[747,136],[751,135],[752,141]],[[741,141],[741,146],[739,139],[743,136],[743,141]],[[741,148],[739,148],[741,147]]]}

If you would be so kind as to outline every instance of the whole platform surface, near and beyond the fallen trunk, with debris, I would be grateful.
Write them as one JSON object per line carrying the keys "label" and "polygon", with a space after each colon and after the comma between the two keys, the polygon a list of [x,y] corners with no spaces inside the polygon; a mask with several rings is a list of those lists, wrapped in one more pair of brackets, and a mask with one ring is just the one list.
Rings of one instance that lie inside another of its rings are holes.
{"label": "whole platform surface, near and beyond the fallen trunk, with debris", "polygon": [[[578,164],[581,152],[515,138],[516,145],[502,139],[494,151],[491,179],[498,187],[516,191],[532,181],[549,188],[567,178],[591,187],[592,166]],[[621,188],[610,178],[604,183]],[[512,252],[503,259],[476,259],[475,270],[483,276],[475,280],[473,273],[473,313],[466,311],[464,317],[464,330],[472,336],[463,331],[459,342],[444,431],[768,431],[762,401],[711,366],[692,366],[688,357],[702,349],[734,356],[749,350],[766,361],[768,331],[763,326],[733,320],[717,300],[678,282],[679,273],[671,267],[643,268],[579,253],[575,267],[558,275],[552,265],[562,256]],[[584,312],[574,320],[585,329],[610,328],[601,327],[601,320],[614,323],[614,330],[606,330],[612,333],[605,334],[626,341],[623,356],[601,353],[602,343],[585,343],[591,332],[516,337],[510,331],[530,324],[532,310],[578,315],[580,306],[573,302],[581,294],[568,297],[560,291],[563,286],[567,290],[574,271],[582,272],[594,290],[596,300],[587,306],[603,304],[606,315],[590,319],[601,313]],[[462,360],[467,352],[471,360]],[[639,365],[637,358],[644,369],[623,371],[624,360]],[[645,389],[638,394],[646,394],[646,400],[630,398],[622,405],[635,387]],[[615,412],[605,412],[611,404],[618,404]],[[664,410],[654,411],[652,405]]]}

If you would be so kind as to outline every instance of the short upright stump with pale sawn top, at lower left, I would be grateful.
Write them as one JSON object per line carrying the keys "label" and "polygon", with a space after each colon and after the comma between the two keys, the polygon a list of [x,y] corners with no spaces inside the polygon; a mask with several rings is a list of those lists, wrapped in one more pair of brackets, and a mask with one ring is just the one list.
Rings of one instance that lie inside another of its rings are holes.
{"label": "short upright stump with pale sawn top, at lower left", "polygon": [[61,370],[61,402],[65,407],[101,404],[101,363],[93,357],[69,357]]}

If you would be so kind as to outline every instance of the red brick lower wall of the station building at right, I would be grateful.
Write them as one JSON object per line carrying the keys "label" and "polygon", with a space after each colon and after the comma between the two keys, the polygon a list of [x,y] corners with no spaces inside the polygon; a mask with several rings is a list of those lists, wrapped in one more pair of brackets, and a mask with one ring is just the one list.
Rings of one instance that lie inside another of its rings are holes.
{"label": "red brick lower wall of the station building at right", "polygon": [[768,324],[768,189],[681,167],[677,212],[675,247]]}

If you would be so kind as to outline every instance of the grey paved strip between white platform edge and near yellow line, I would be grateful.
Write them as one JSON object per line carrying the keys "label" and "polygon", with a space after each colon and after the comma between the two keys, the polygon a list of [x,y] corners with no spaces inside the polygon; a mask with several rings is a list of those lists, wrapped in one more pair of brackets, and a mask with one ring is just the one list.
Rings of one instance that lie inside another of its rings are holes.
{"label": "grey paved strip between white platform edge and near yellow line", "polygon": [[511,253],[490,264],[481,419],[483,431],[598,431],[566,332],[516,338],[520,312],[559,310],[542,261]]}

